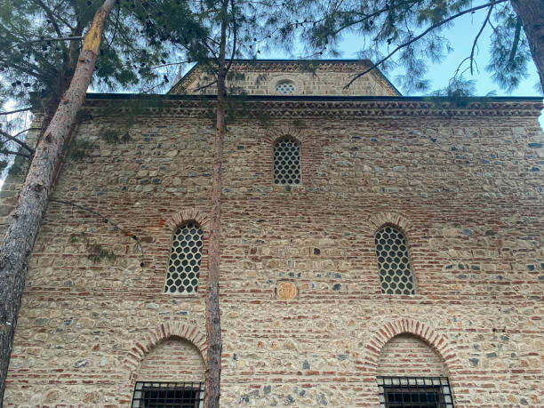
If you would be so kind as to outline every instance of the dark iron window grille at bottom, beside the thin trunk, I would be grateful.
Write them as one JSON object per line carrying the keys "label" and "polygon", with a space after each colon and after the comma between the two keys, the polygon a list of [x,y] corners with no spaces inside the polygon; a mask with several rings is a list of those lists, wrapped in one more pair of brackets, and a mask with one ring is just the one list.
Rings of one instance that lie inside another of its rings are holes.
{"label": "dark iron window grille at bottom, beside the thin trunk", "polygon": [[202,408],[202,382],[137,382],[131,408]]}

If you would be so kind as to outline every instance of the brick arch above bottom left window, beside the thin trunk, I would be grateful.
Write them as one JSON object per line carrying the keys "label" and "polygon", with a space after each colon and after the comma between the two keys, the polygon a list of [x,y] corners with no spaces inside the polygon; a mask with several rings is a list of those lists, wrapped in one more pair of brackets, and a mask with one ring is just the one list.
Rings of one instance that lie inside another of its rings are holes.
{"label": "brick arch above bottom left window, beside the thin trunk", "polygon": [[198,348],[198,351],[200,351],[205,363],[206,350],[208,348],[205,334],[200,332],[196,327],[188,324],[164,322],[156,327],[156,329],[148,332],[145,337],[135,341],[127,356],[125,356],[123,365],[130,372],[132,382],[135,380],[138,366],[145,356],[148,355],[149,351],[162,341],[172,337],[179,337],[193,343]]}

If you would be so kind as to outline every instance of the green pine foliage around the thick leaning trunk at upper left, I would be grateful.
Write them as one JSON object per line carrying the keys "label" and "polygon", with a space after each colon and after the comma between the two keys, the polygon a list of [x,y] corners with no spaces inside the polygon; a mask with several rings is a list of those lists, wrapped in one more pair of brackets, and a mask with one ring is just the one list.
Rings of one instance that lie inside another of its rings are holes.
{"label": "green pine foliage around the thick leaning trunk at upper left", "polygon": [[[105,23],[105,46],[93,76],[99,90],[150,87],[164,89],[169,52],[133,16],[133,2],[116,3]],[[27,129],[6,110],[43,115],[43,133],[67,91],[76,69],[84,29],[91,24],[99,0],[0,0],[0,172],[9,156],[31,158],[22,148]],[[166,67],[161,67],[161,66]],[[16,109],[6,108],[15,103]],[[6,120],[9,118],[9,120]]]}

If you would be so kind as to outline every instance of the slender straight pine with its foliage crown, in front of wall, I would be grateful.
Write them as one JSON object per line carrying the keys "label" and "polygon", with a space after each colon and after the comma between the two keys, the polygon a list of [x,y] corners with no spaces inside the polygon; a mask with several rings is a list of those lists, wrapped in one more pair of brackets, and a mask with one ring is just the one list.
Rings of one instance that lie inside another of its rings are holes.
{"label": "slender straight pine with its foliage crown, in front of wall", "polygon": [[[275,2],[253,3],[247,0],[207,0],[193,9],[194,20],[179,13],[164,12],[164,18],[151,21],[156,34],[180,47],[196,60],[211,79],[206,86],[217,90],[215,101],[215,142],[213,149],[210,239],[208,246],[208,282],[205,320],[207,356],[205,358],[204,407],[220,406],[221,326],[220,326],[220,215],[221,166],[229,98],[227,78],[238,56],[256,58],[260,47],[273,47],[279,32],[292,25],[291,14]],[[162,17],[162,16],[159,16]],[[180,20],[181,19],[181,20]],[[284,45],[291,44],[284,41]],[[236,93],[236,89],[234,89]]]}

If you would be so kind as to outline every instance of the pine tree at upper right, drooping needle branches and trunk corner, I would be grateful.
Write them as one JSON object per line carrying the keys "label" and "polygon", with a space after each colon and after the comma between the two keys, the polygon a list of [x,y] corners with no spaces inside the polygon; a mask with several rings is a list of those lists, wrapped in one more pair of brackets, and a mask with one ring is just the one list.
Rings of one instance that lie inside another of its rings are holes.
{"label": "pine tree at upper right, drooping needle branches and trunk corner", "polygon": [[[484,28],[492,28],[491,59],[485,69],[507,92],[527,76],[527,65],[534,61],[544,90],[544,14],[541,0],[491,0],[473,4],[470,0],[371,0],[367,2],[305,2],[303,14],[313,16],[302,21],[301,39],[316,54],[334,54],[335,46],[347,32],[361,39],[360,55],[372,60],[384,71],[400,67],[401,87],[407,91],[428,90],[428,62],[442,60],[450,51],[442,35],[456,19],[466,14],[483,13],[484,21],[474,36],[471,52],[460,61],[452,86],[470,84],[463,75],[476,69],[476,50]],[[292,33],[286,31],[285,36]],[[385,50],[385,51],[384,51]],[[373,68],[370,68],[371,70]],[[353,76],[349,86],[365,70]],[[465,88],[467,90],[467,88]]]}

